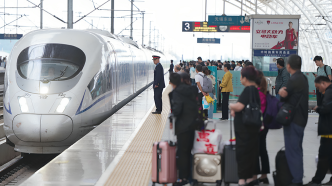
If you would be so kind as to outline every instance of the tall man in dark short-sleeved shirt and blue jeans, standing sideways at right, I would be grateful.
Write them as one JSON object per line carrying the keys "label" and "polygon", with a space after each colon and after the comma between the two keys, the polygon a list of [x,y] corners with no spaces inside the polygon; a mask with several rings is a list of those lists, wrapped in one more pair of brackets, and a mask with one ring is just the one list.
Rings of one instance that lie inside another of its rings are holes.
{"label": "tall man in dark short-sleeved shirt and blue jeans, standing sideways at right", "polygon": [[289,103],[295,108],[293,121],[284,126],[284,140],[288,167],[293,176],[291,186],[302,186],[303,182],[303,150],[302,142],[304,128],[308,121],[309,84],[301,72],[302,59],[298,55],[291,55],[288,59],[287,71],[291,74],[286,87],[279,90],[281,101]]}

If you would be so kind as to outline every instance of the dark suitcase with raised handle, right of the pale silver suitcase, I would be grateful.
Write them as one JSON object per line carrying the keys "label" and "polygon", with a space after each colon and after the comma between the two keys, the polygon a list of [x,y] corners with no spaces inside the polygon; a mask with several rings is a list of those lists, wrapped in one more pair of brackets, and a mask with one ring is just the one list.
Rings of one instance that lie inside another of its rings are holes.
{"label": "dark suitcase with raised handle, right of the pale silver suitcase", "polygon": [[[233,118],[230,117],[230,123],[231,123],[231,139],[233,138],[233,124],[232,124]],[[237,172],[237,162],[236,162],[236,149],[235,145],[231,142],[230,145],[224,146],[224,154],[223,154],[223,180],[225,183],[225,186],[229,186],[230,183],[238,183],[239,182],[239,176]]]}

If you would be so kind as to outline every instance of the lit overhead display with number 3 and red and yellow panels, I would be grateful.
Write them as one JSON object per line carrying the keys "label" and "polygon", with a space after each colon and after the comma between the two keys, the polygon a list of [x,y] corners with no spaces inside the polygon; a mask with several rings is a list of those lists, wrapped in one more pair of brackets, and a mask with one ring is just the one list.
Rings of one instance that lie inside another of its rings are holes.
{"label": "lit overhead display with number 3 and red and yellow panels", "polygon": [[250,32],[250,26],[215,26],[207,22],[182,22],[182,32]]}

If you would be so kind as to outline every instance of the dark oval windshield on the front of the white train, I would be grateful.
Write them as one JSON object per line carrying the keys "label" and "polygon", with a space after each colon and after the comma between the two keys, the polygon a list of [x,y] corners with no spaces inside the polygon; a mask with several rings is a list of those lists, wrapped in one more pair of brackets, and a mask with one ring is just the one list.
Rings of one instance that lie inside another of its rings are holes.
{"label": "dark oval windshield on the front of the white train", "polygon": [[62,81],[82,71],[85,54],[77,47],[45,44],[24,49],[17,61],[18,73],[25,79]]}

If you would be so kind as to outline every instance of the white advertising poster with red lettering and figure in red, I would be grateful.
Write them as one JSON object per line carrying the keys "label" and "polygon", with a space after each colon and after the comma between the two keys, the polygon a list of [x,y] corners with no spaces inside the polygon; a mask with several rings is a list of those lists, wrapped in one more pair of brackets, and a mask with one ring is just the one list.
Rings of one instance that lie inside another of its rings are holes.
{"label": "white advertising poster with red lettering and figure in red", "polygon": [[254,19],[253,49],[298,49],[298,19]]}

